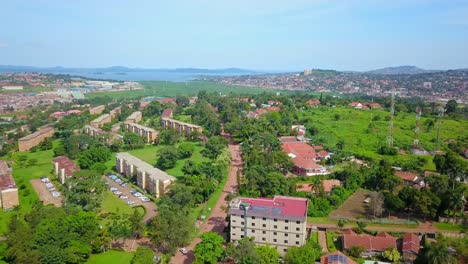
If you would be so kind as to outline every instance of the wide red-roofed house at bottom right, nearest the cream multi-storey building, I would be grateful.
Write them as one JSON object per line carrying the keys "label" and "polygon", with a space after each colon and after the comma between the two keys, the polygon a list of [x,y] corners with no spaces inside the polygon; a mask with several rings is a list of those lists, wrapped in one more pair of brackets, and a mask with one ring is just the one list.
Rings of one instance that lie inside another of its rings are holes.
{"label": "wide red-roofed house at bottom right, nearest the cream multi-storey building", "polygon": [[382,255],[387,248],[396,248],[396,238],[381,232],[376,236],[367,234],[356,234],[353,230],[343,231],[342,236],[343,250],[349,250],[351,247],[359,246],[364,248],[363,257]]}

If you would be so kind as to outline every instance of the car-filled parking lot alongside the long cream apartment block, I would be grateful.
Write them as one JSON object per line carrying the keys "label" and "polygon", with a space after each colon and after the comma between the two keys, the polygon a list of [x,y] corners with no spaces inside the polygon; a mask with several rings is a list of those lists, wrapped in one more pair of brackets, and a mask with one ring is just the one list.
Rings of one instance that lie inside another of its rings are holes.
{"label": "car-filled parking lot alongside the long cream apartment block", "polygon": [[146,194],[136,191],[131,185],[125,184],[116,175],[105,175],[103,178],[108,183],[109,190],[122,199],[123,202],[127,203],[128,206],[141,205],[145,207],[146,214],[143,217],[143,221],[147,222],[149,219],[156,216],[156,204],[147,198]]}

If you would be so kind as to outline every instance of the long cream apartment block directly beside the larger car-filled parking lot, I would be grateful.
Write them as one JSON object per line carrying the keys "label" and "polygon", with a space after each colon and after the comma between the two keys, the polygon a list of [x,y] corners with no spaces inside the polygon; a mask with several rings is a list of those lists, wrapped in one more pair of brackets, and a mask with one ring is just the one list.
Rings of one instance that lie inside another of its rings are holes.
{"label": "long cream apartment block directly beside the larger car-filled parking lot", "polygon": [[126,152],[117,153],[116,170],[127,178],[136,177],[137,185],[156,198],[168,191],[175,178]]}

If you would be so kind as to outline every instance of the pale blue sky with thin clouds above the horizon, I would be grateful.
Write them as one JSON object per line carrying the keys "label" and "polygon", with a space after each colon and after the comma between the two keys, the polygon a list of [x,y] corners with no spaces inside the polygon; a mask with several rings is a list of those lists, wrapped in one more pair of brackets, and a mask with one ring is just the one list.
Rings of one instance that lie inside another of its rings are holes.
{"label": "pale blue sky with thin clouds above the horizon", "polygon": [[0,64],[468,67],[468,0],[1,1]]}

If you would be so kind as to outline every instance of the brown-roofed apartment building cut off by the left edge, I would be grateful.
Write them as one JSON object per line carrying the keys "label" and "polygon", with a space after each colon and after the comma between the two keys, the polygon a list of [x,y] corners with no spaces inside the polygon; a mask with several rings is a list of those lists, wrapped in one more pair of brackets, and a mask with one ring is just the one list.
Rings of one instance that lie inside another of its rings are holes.
{"label": "brown-roofed apartment building cut off by the left edge", "polygon": [[0,160],[0,205],[3,210],[11,210],[19,205],[18,187],[4,160]]}

